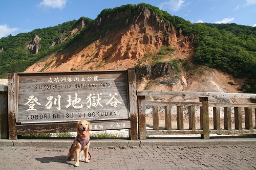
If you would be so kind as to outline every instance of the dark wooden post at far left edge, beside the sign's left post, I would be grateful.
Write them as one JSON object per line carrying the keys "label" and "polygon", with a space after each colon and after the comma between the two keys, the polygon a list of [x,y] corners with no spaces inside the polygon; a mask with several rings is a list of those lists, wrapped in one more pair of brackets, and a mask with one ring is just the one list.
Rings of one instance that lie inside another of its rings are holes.
{"label": "dark wooden post at far left edge, beside the sign's left post", "polygon": [[0,138],[1,139],[8,139],[7,82],[3,82],[1,84],[2,85],[0,85]]}

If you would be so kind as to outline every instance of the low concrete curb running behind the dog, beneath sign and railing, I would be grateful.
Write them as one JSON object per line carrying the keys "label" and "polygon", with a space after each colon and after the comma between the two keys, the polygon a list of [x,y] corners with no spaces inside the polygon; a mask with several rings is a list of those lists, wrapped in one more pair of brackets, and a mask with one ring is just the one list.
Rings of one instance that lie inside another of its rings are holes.
{"label": "low concrete curb running behind the dog, beneath sign and railing", "polygon": [[[34,148],[70,148],[72,139],[0,139],[3,147],[34,147]],[[109,147],[147,147],[162,146],[188,146],[188,145],[256,145],[255,137],[248,138],[150,138],[147,140],[129,139],[91,139],[92,148]]]}

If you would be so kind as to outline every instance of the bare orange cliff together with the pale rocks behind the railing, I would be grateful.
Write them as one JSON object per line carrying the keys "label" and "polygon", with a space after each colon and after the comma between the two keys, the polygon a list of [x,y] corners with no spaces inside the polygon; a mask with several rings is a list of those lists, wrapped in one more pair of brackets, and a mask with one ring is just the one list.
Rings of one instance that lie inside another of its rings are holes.
{"label": "bare orange cliff together with the pale rocks behind the railing", "polygon": [[[98,38],[88,44],[92,36]],[[185,59],[191,64],[195,39],[196,35],[184,36],[181,29],[176,30],[172,23],[166,25],[154,12],[141,6],[137,11],[129,9],[97,18],[91,30],[84,32],[76,43],[78,46],[52,54],[26,72],[127,69],[140,65],[136,67],[137,89],[145,89],[153,80],[150,90],[239,92],[237,87],[228,84],[236,80],[229,75],[221,76],[223,73],[218,70],[207,70],[203,76],[189,75],[182,70],[177,76],[172,65],[155,68],[147,59],[162,46],[168,46],[174,50],[172,54],[163,55],[163,62]]]}

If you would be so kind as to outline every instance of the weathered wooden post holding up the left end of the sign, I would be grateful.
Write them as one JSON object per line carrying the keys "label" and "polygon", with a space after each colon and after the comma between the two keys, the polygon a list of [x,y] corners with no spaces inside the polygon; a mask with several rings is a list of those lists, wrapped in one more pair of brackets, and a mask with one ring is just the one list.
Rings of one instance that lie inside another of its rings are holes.
{"label": "weathered wooden post holding up the left end of the sign", "polygon": [[8,127],[9,139],[17,139],[16,114],[17,114],[17,73],[8,72]]}

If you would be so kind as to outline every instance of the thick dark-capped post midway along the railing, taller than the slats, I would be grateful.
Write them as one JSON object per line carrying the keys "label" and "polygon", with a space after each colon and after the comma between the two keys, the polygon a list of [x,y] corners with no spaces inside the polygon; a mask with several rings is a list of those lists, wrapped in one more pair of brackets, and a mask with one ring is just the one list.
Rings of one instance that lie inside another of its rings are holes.
{"label": "thick dark-capped post midway along the railing, taller than the slats", "polygon": [[210,138],[210,131],[209,131],[209,102],[207,97],[200,97],[200,102],[202,102],[202,124],[203,127],[203,134],[201,135],[202,139],[209,139]]}

